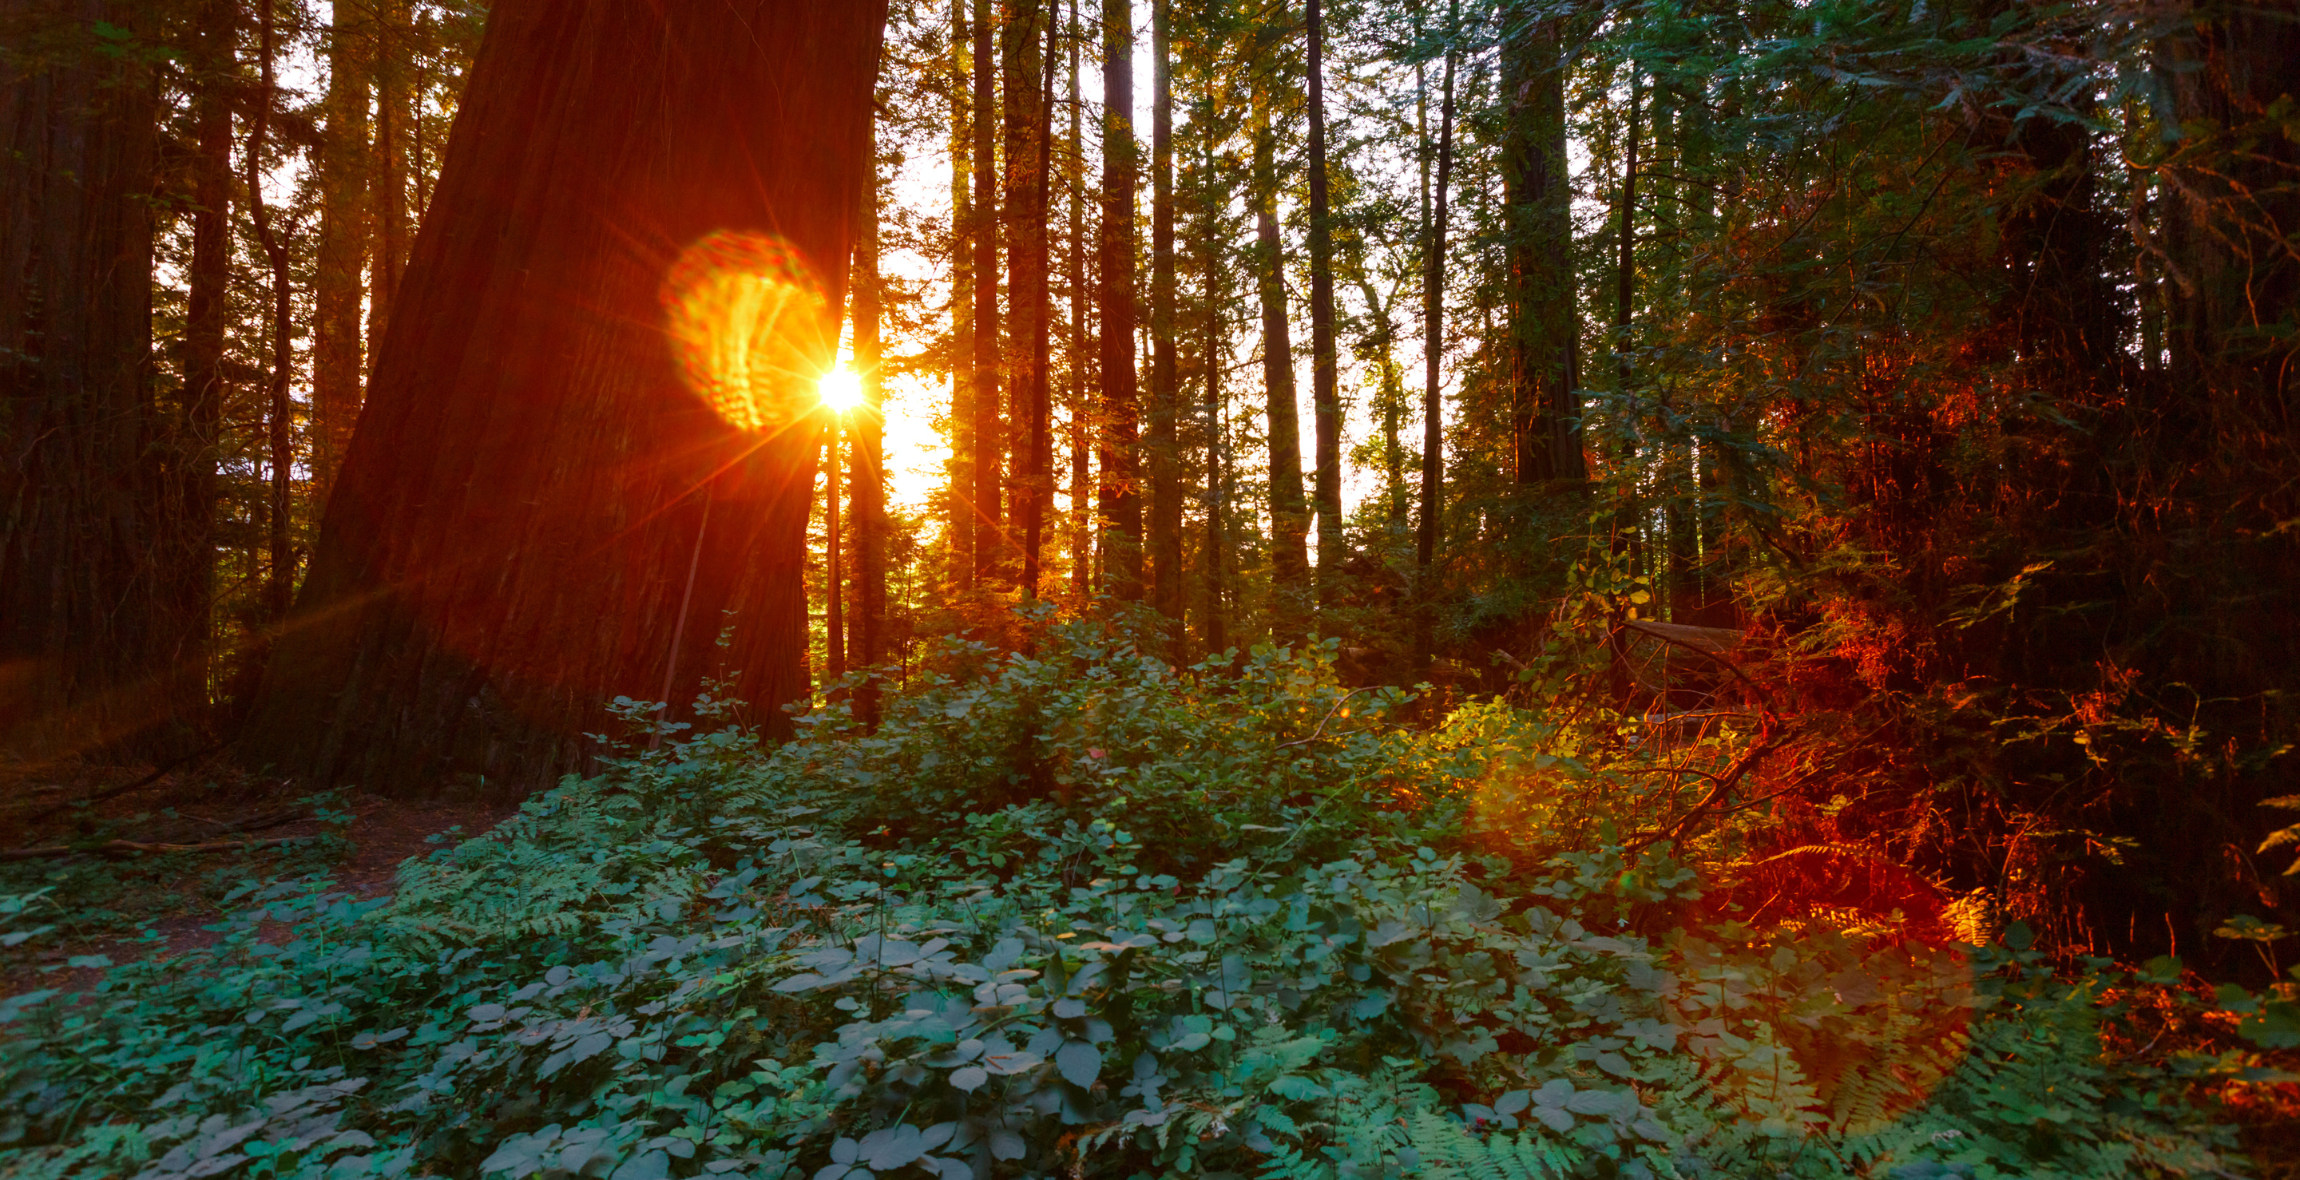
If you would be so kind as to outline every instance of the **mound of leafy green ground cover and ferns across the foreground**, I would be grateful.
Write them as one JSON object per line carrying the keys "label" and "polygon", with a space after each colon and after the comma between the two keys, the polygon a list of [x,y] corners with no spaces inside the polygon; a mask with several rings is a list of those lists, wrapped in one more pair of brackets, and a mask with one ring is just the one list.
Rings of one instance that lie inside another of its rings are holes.
{"label": "mound of leafy green ground cover and ferns across the foreground", "polygon": [[391,899],[251,883],[214,950],[0,1001],[0,1175],[2245,1168],[2192,1097],[2242,1058],[2104,1051],[2134,980],[1697,920],[1704,865],[1605,842],[1665,789],[1539,715],[1405,729],[1322,651],[945,651],[876,734],[632,754]]}

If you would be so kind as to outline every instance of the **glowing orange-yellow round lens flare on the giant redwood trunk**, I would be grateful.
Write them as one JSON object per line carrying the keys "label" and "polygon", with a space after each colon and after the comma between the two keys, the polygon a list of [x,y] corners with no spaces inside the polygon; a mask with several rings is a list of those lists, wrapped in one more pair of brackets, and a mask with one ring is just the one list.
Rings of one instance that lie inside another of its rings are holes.
{"label": "glowing orange-yellow round lens flare on the giant redwood trunk", "polygon": [[713,232],[678,255],[660,297],[681,377],[729,426],[780,430],[814,409],[837,322],[787,242]]}

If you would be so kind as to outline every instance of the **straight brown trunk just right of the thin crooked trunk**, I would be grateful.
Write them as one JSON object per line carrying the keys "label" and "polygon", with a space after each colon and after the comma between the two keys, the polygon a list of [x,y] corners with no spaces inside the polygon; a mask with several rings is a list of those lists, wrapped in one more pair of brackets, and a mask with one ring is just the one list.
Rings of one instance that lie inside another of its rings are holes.
{"label": "straight brown trunk just right of the thin crooked trunk", "polygon": [[368,53],[370,23],[350,2],[336,5],[327,30],[327,124],[320,133],[320,246],[313,260],[310,340],[310,501],[327,492],[343,467],[343,451],[359,421],[366,384],[366,345],[359,329],[368,267]]}

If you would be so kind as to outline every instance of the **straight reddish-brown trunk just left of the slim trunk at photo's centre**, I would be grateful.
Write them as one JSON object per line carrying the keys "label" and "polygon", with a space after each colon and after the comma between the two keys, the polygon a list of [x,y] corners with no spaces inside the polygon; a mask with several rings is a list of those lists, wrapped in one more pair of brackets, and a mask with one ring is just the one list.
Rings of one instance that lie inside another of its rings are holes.
{"label": "straight reddish-brown trunk just left of the slim trunk at photo's centre", "polygon": [[1134,391],[1134,5],[1102,0],[1102,587],[1143,596]]}

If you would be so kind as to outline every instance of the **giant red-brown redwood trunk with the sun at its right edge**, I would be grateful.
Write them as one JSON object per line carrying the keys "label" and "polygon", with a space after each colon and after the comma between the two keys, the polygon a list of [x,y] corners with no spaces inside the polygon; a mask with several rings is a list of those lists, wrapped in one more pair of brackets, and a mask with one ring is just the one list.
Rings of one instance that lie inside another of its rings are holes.
{"label": "giant red-brown redwood trunk with the sun at its right edge", "polygon": [[883,21],[494,7],[251,764],[531,789],[612,697],[729,674],[789,725]]}

